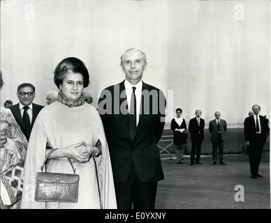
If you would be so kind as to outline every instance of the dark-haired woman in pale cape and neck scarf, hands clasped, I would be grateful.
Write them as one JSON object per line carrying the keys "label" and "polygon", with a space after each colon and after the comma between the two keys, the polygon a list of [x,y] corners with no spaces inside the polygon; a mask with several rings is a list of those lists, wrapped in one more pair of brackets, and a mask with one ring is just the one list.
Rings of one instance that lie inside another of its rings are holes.
{"label": "dark-haired woman in pale cape and neck scarf, hands clasped", "polygon": [[[101,118],[82,93],[89,85],[85,64],[74,57],[62,60],[54,70],[54,83],[59,98],[38,114],[29,139],[22,208],[117,208]],[[73,174],[68,157],[80,176],[77,203],[34,200],[36,173],[50,148],[54,151],[48,172]]]}

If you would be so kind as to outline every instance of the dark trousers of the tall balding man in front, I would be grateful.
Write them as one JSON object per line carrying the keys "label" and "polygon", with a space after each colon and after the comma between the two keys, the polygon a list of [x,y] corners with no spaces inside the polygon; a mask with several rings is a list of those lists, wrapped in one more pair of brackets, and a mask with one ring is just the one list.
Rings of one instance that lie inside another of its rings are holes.
{"label": "dark trousers of the tall balding man in front", "polygon": [[[149,171],[146,169],[146,171]],[[142,182],[132,165],[130,174],[124,182],[115,182],[118,209],[154,209],[157,181]]]}

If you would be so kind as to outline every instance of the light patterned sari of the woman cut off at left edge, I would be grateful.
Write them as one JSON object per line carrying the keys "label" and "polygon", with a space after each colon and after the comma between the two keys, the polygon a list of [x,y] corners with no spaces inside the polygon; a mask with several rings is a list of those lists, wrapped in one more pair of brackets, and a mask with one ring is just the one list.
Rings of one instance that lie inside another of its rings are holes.
{"label": "light patterned sari of the woman cut off at left edge", "polygon": [[[13,167],[14,164],[25,159],[27,154],[27,138],[20,130],[20,126],[16,123],[13,114],[10,109],[4,107],[0,108],[0,131],[1,135],[6,136],[6,144],[1,148],[0,154],[0,171],[1,173]],[[13,206],[4,206],[6,194],[3,193],[3,184],[1,182],[1,209],[2,208],[19,208],[20,201],[15,203]]]}

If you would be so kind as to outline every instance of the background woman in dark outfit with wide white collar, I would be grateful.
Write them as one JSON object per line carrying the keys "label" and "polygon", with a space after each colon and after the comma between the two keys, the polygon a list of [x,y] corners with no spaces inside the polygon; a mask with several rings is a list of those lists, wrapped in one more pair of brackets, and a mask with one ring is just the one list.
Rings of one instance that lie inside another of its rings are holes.
{"label": "background woman in dark outfit with wide white collar", "polygon": [[184,118],[181,117],[182,109],[176,109],[176,116],[173,118],[170,124],[170,129],[173,130],[173,146],[175,155],[177,157],[177,164],[184,163],[182,161],[182,155],[184,153],[184,144],[186,144],[186,122]]}

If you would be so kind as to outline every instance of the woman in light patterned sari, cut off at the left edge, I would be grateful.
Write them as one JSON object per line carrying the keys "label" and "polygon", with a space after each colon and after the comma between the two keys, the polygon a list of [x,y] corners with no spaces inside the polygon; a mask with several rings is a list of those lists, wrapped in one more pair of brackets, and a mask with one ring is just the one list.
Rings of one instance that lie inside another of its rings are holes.
{"label": "woman in light patterned sari, cut off at the left edge", "polygon": [[[0,89],[3,86],[2,72],[0,70]],[[10,109],[1,107],[0,112],[0,173],[1,173],[1,209],[16,209],[20,208],[20,199],[22,188],[10,187],[10,182],[14,179],[13,176],[6,175],[9,169],[15,166],[18,162],[25,159],[27,153],[27,139],[20,130],[20,126],[16,123]],[[22,163],[23,165],[23,163]],[[20,174],[20,176],[18,175]],[[16,177],[22,177],[23,172],[18,173]],[[12,192],[11,192],[12,190]],[[8,192],[10,191],[10,192]],[[13,199],[16,201],[13,201]]]}

